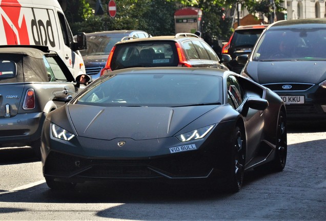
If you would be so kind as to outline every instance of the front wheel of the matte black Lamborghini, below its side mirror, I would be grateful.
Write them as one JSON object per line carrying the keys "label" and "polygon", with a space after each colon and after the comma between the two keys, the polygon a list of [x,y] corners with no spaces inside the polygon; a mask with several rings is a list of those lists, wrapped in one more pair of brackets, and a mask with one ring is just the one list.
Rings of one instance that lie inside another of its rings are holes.
{"label": "front wheel of the matte black Lamborghini, below its side mirror", "polygon": [[236,126],[232,138],[231,162],[229,170],[229,179],[226,189],[231,192],[238,192],[242,187],[244,174],[244,131]]}

